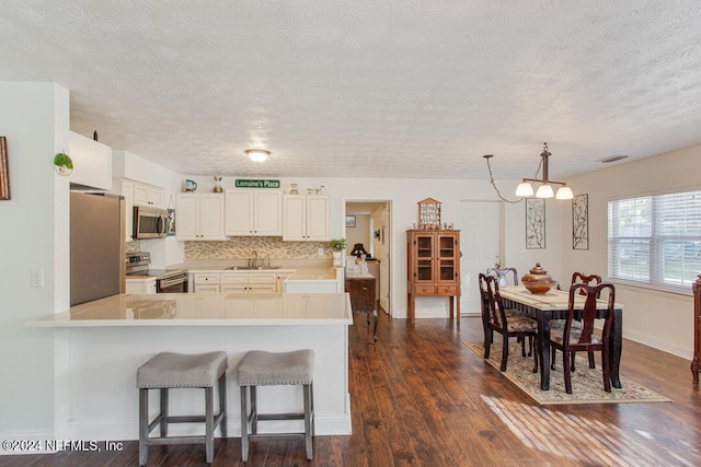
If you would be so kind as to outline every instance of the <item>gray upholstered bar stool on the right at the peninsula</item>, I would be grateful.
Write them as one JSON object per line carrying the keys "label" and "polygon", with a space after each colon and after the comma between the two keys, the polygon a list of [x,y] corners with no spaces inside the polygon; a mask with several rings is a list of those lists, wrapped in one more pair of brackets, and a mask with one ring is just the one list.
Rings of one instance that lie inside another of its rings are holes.
{"label": "gray upholstered bar stool on the right at the peninsula", "polygon": [[[292,352],[246,352],[237,367],[237,383],[241,387],[241,460],[249,459],[250,441],[263,439],[303,437],[307,459],[312,458],[312,436],[314,435],[314,351],[310,349]],[[303,392],[303,413],[260,415],[256,405],[256,386],[301,385]],[[249,393],[251,410],[249,411]],[[257,422],[262,420],[304,420],[303,433],[258,434]],[[249,423],[251,434],[249,434]]]}

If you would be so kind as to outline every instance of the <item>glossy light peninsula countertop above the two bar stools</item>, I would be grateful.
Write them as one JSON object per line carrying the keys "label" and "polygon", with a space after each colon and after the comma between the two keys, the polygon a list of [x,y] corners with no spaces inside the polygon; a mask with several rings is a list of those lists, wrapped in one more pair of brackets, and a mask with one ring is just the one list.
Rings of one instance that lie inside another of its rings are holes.
{"label": "glossy light peninsula countertop above the two bar stools", "polygon": [[118,294],[27,323],[37,327],[353,324],[347,293]]}

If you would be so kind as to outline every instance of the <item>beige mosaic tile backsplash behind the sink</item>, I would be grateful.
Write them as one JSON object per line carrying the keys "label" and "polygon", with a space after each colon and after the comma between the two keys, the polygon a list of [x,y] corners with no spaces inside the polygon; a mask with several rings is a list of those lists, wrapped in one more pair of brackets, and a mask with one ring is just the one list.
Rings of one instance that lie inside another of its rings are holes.
{"label": "beige mosaic tile backsplash behind the sink", "polygon": [[[319,248],[324,254],[319,256]],[[246,259],[255,250],[272,259],[327,259],[329,242],[283,242],[281,237],[232,237],[226,242],[185,242],[185,259]]]}

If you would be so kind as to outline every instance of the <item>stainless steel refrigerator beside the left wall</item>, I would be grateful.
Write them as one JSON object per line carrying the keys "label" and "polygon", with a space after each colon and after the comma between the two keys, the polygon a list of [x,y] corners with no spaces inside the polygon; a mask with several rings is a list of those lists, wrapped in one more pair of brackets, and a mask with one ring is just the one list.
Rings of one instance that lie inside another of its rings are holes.
{"label": "stainless steel refrigerator beside the left wall", "polygon": [[124,198],[70,194],[70,304],[124,291]]}

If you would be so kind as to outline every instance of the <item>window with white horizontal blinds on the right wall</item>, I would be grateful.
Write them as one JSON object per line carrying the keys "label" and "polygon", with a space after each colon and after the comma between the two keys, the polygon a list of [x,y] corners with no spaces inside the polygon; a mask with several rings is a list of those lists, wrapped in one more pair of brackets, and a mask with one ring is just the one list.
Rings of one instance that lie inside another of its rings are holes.
{"label": "window with white horizontal blinds on the right wall", "polygon": [[701,275],[701,191],[608,203],[609,277],[688,290]]}

